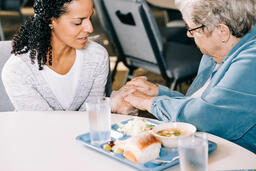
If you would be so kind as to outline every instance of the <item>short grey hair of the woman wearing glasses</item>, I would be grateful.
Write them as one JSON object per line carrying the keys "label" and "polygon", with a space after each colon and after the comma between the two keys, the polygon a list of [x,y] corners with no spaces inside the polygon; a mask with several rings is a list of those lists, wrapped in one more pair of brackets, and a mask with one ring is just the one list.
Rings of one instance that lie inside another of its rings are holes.
{"label": "short grey hair of the woman wearing glasses", "polygon": [[235,37],[243,37],[256,21],[255,0],[176,0],[182,14],[211,32],[218,24],[228,26]]}

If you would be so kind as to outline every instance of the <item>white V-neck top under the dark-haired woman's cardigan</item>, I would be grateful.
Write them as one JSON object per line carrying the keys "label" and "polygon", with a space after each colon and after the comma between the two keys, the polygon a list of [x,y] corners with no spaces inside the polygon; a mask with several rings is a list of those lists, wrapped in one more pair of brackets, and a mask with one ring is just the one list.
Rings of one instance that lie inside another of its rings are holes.
{"label": "white V-neck top under the dark-haired woman's cardigan", "polygon": [[82,67],[81,64],[81,53],[79,53],[79,50],[76,50],[75,62],[69,72],[65,75],[56,73],[47,65],[41,70],[44,79],[64,109],[69,108],[75,97],[79,74]]}

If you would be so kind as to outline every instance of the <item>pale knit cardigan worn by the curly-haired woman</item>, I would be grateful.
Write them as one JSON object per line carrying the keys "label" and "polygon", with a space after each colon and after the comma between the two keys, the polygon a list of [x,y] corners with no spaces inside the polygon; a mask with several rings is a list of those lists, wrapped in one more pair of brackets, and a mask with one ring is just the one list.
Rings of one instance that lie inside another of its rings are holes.
{"label": "pale knit cardigan worn by the curly-haired woman", "polygon": [[[85,110],[85,102],[89,98],[103,96],[109,73],[109,58],[104,47],[89,41],[82,53],[82,71],[76,95],[67,109],[70,111]],[[2,81],[17,111],[64,110],[36,62],[31,64],[28,53],[10,57],[3,68]]]}

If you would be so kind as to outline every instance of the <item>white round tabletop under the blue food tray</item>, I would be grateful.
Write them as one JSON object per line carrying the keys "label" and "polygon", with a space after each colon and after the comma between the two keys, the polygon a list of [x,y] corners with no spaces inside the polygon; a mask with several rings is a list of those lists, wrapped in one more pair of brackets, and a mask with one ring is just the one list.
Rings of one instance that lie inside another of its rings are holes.
{"label": "white round tabletop under the blue food tray", "polygon": [[[113,114],[112,123],[131,117]],[[135,170],[75,140],[86,132],[85,112],[0,113],[0,170]],[[256,155],[252,152],[213,135],[209,139],[218,144],[209,156],[209,170],[256,168]],[[179,170],[179,165],[167,170]]]}

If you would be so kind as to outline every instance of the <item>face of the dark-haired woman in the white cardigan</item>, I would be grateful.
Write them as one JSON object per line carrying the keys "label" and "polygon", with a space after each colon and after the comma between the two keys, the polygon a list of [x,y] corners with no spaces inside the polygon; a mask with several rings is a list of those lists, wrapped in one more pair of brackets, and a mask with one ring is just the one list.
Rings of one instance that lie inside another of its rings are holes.
{"label": "face of the dark-haired woman in the white cardigan", "polygon": [[52,19],[52,41],[56,41],[53,43],[83,49],[93,32],[92,15],[92,0],[73,0],[67,4],[67,12],[58,19]]}

